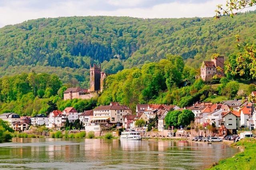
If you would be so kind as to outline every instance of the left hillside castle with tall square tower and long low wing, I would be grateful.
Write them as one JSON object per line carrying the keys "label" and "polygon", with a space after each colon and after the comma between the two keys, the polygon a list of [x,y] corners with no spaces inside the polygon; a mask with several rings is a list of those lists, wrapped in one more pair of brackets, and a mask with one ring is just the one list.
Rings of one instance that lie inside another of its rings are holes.
{"label": "left hillside castle with tall square tower and long low wing", "polygon": [[64,100],[68,99],[90,99],[98,96],[98,92],[103,90],[103,81],[106,78],[105,72],[101,71],[100,64],[90,65],[90,89],[80,87],[68,88],[63,92]]}

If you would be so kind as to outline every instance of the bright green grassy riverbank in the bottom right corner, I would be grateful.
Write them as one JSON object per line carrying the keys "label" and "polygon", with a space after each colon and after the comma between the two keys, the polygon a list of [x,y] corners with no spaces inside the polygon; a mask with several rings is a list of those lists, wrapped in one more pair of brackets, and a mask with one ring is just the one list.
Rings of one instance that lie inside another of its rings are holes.
{"label": "bright green grassy riverbank in the bottom right corner", "polygon": [[232,158],[220,160],[209,170],[255,170],[256,169],[256,139],[242,139],[231,146],[243,151]]}

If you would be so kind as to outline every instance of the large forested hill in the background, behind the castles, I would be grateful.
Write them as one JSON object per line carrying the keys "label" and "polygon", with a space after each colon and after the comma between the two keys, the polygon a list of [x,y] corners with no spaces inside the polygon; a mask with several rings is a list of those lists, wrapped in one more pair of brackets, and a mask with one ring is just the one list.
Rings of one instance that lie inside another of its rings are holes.
{"label": "large forested hill in the background, behind the castles", "polygon": [[62,17],[7,25],[0,29],[1,76],[56,71],[64,83],[87,86],[89,64],[103,63],[103,70],[115,73],[168,53],[197,68],[212,53],[226,58],[233,53],[236,34],[255,43],[255,17],[256,12],[221,20]]}

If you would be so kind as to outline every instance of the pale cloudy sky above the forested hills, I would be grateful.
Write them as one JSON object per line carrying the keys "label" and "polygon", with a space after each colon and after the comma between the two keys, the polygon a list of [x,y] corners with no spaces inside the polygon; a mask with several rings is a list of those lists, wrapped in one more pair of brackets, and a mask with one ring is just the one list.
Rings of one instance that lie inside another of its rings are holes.
{"label": "pale cloudy sky above the forested hills", "polygon": [[212,17],[226,0],[0,0],[0,27],[59,16]]}

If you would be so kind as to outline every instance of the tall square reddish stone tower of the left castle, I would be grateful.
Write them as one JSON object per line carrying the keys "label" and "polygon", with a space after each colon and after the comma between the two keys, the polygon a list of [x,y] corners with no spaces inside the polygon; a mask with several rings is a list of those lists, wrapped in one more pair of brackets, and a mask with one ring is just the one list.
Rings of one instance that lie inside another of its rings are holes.
{"label": "tall square reddish stone tower of the left castle", "polygon": [[93,64],[93,66],[90,65],[90,92],[100,90],[100,70],[100,64]]}

